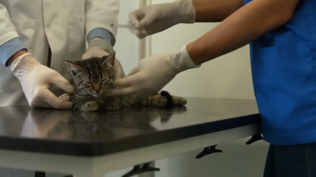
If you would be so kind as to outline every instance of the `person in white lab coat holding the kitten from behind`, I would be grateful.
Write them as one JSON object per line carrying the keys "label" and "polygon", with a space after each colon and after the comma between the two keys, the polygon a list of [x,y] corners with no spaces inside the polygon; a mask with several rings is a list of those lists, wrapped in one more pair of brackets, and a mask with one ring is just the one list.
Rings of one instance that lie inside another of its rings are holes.
{"label": "person in white lab coat holding the kitten from behind", "polygon": [[[64,60],[112,53],[119,8],[119,0],[0,0],[0,106],[71,108],[62,94],[74,90]],[[34,172],[0,168],[0,176]]]}

